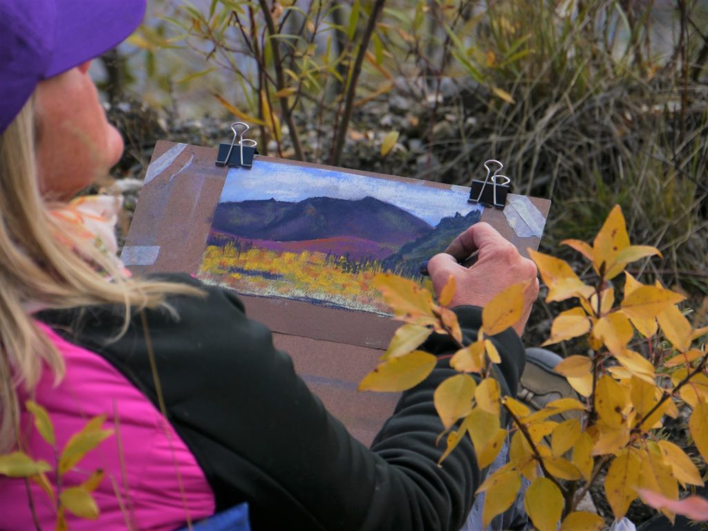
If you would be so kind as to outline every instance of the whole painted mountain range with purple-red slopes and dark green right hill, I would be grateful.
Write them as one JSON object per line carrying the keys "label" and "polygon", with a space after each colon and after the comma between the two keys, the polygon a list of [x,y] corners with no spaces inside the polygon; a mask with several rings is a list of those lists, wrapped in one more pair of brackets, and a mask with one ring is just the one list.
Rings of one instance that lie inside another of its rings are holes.
{"label": "whole painted mountain range with purple-red slopes and dark green right hill", "polygon": [[299,202],[248,200],[219,203],[210,244],[238,239],[270,251],[319,251],[349,260],[375,259],[387,270],[413,276],[421,261],[445,249],[481,212],[440,220],[437,227],[372,197],[326,197]]}

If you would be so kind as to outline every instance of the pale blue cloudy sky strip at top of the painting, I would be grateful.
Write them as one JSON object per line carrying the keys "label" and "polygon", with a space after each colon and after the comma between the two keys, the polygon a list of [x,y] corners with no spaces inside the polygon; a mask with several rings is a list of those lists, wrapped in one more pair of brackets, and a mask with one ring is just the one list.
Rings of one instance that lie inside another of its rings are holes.
{"label": "pale blue cloudy sky strip at top of the painting", "polygon": [[437,225],[456,212],[483,208],[467,202],[469,192],[423,185],[423,181],[389,181],[355,173],[257,161],[250,170],[229,170],[219,202],[263,200],[298,202],[327,197],[358,200],[367,196],[389,202]]}

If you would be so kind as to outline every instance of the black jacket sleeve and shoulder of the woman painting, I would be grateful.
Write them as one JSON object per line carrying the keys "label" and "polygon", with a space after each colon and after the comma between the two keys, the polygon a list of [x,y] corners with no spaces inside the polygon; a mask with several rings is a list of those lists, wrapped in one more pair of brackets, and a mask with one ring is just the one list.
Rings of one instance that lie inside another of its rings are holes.
{"label": "black jacket sleeve and shoulder of the woman painting", "polygon": [[[200,285],[187,275],[161,278]],[[455,375],[440,360],[425,382],[404,392],[371,449],[351,437],[275,350],[270,331],[246,318],[241,301],[204,287],[206,299],[171,297],[165,309],[132,319],[127,333],[115,307],[37,315],[72,343],[102,355],[159,407],[195,455],[218,510],[247,501],[258,530],[459,530],[481,474],[469,438],[438,467],[442,424],[435,387]],[[455,310],[466,341],[481,311]],[[496,343],[503,394],[516,394],[524,351],[508,330]],[[159,387],[149,361],[152,343]],[[424,348],[453,353],[446,336]],[[373,368],[373,367],[372,367]]]}

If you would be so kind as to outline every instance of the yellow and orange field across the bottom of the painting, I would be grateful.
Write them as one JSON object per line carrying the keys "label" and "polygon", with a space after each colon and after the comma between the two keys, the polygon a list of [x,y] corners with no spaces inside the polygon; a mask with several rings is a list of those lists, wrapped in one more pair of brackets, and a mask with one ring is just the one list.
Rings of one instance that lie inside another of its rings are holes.
{"label": "yellow and orange field across the bottom of the painting", "polygon": [[207,246],[198,277],[245,295],[286,297],[320,304],[389,314],[373,286],[378,262],[352,264],[344,257],[303,251],[289,253],[258,247]]}

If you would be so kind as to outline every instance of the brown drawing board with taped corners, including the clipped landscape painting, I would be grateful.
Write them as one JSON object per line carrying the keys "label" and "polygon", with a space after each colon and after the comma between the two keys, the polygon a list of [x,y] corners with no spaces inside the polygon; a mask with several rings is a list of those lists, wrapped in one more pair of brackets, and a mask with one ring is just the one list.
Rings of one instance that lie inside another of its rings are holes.
{"label": "brown drawing board with taped corners, including the clipped landscape painting", "polygon": [[399,326],[373,277],[429,286],[421,261],[479,221],[523,253],[536,249],[550,205],[512,194],[502,211],[468,202],[463,186],[264,156],[229,169],[215,159],[214,148],[157,144],[122,260],[134,273],[189,273],[238,292],[365,443],[396,401],[356,392]]}

